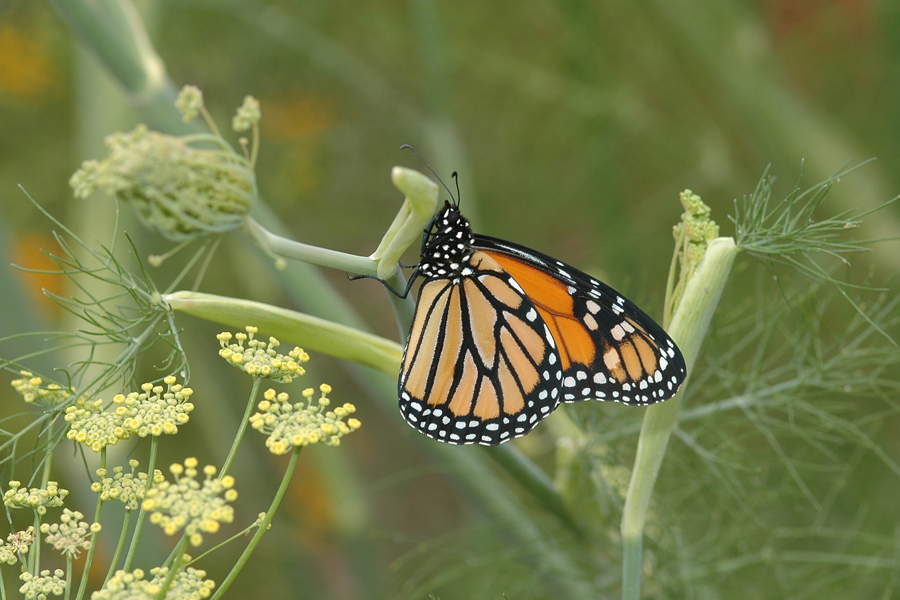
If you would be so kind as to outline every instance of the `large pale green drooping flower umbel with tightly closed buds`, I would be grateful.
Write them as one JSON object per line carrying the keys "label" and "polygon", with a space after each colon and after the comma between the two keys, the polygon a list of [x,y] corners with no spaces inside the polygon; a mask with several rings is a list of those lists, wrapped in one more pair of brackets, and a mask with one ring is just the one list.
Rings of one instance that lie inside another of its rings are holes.
{"label": "large pale green drooping flower umbel with tightly closed buds", "polygon": [[106,145],[107,158],[85,161],[69,179],[75,196],[99,189],[129,200],[147,227],[170,240],[231,231],[256,199],[249,161],[221,137],[177,137],[138,125],[107,136]]}

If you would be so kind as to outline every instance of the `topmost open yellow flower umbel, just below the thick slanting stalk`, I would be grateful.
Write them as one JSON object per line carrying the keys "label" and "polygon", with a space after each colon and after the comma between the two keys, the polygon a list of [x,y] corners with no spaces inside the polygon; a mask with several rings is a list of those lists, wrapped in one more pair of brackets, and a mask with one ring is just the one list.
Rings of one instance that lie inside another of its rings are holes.
{"label": "topmost open yellow flower umbel, just below the thick slanting stalk", "polygon": [[[252,377],[271,379],[278,383],[290,383],[295,377],[300,377],[306,370],[300,365],[309,362],[309,355],[302,348],[294,347],[284,354],[278,354],[275,349],[281,345],[277,339],[270,337],[268,343],[256,339],[254,336],[256,327],[248,325],[247,333],[238,332],[234,335],[225,331],[216,336],[219,345],[219,356]],[[230,343],[232,339],[237,343]],[[247,347],[244,347],[246,342]]]}

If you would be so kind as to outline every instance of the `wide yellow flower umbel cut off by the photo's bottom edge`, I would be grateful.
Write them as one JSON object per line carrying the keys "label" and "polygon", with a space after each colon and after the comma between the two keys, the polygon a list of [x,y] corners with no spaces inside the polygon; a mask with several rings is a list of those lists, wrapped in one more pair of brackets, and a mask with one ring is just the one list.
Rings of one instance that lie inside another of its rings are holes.
{"label": "wide yellow flower umbel cut off by the photo's bottom edge", "polygon": [[[190,557],[185,555],[184,562]],[[100,591],[91,595],[91,600],[153,600],[162,590],[163,583],[169,574],[168,567],[150,569],[152,579],[144,579],[143,569],[132,572],[116,571]],[[180,569],[172,579],[166,592],[166,600],[201,600],[209,598],[216,584],[212,579],[205,579],[206,571],[188,567]]]}

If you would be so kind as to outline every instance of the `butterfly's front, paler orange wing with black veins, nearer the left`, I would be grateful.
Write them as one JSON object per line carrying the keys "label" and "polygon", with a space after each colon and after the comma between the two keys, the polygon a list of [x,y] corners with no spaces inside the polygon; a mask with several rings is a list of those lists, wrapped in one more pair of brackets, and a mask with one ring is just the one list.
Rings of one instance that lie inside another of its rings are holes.
{"label": "butterfly's front, paler orange wing with black veins, nearer the left", "polygon": [[539,310],[486,253],[419,289],[398,383],[413,428],[442,442],[500,444],[556,408],[562,378]]}

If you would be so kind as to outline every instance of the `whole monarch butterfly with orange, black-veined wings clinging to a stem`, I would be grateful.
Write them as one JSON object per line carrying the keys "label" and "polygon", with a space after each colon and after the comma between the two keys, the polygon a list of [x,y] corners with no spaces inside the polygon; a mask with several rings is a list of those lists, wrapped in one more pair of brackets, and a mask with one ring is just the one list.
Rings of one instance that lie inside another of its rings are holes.
{"label": "whole monarch butterfly with orange, black-veined wings clinging to a stem", "polygon": [[438,441],[496,446],[560,402],[643,406],[684,381],[681,351],[634,303],[559,260],[474,234],[457,204],[425,230],[417,275],[400,413]]}

